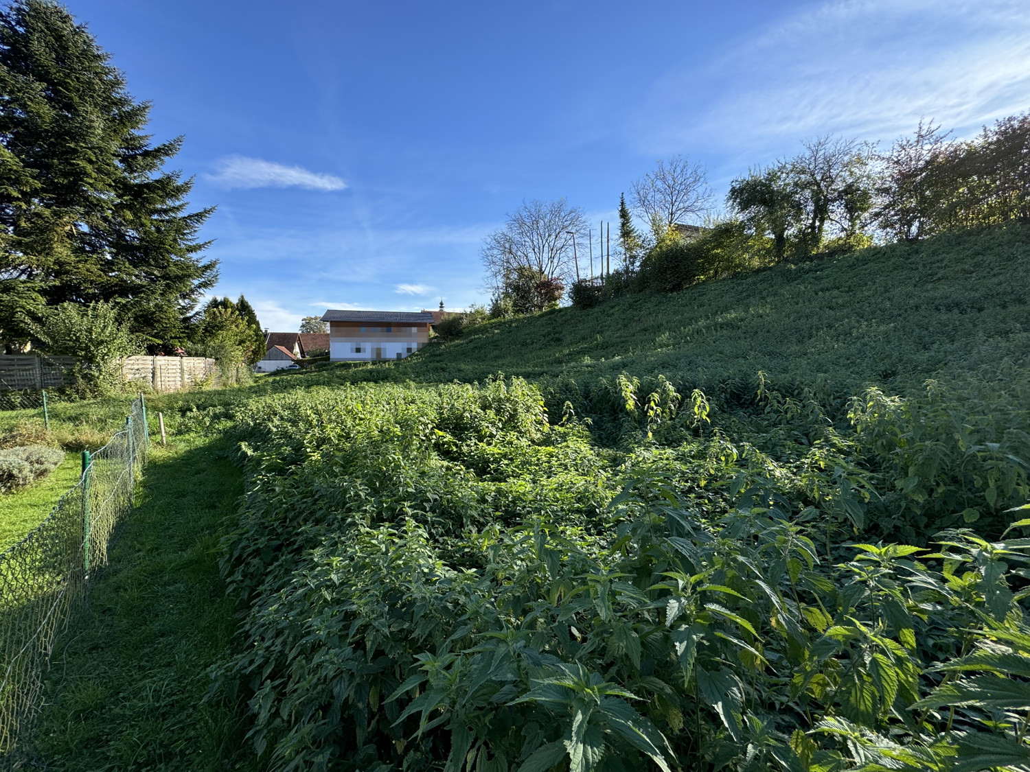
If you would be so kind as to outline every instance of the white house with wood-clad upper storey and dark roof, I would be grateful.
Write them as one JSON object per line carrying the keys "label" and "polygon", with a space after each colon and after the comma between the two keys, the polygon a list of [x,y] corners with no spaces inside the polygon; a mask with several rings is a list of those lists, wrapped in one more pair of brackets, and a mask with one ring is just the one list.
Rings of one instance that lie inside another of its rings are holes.
{"label": "white house with wood-clad upper storey and dark roof", "polygon": [[430,342],[432,313],[327,311],[330,361],[404,359]]}

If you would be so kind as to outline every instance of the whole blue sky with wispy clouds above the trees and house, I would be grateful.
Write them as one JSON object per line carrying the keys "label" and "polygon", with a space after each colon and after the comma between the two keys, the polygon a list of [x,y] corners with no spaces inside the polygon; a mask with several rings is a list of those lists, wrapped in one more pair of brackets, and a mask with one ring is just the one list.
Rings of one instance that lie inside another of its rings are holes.
{"label": "whole blue sky with wispy clouds above the trees and house", "polygon": [[138,99],[221,261],[296,329],[327,308],[484,302],[479,245],[523,199],[614,220],[658,159],[749,166],[832,133],[959,136],[1030,109],[1026,0],[70,0]]}

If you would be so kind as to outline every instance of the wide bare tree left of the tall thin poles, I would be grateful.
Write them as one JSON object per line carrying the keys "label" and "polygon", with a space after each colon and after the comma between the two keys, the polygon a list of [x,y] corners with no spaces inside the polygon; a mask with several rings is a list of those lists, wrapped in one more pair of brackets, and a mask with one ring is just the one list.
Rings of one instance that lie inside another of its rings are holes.
{"label": "wide bare tree left of the tall thin poles", "polygon": [[586,233],[586,218],[579,207],[564,199],[522,202],[508,221],[483,240],[480,252],[486,283],[503,291],[519,269],[547,279],[568,282],[575,276],[573,237]]}

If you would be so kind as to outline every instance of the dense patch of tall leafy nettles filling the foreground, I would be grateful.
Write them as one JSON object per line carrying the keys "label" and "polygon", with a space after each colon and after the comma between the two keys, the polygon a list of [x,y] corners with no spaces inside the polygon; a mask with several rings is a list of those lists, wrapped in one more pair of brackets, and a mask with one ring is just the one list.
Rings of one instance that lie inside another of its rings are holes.
{"label": "dense patch of tall leafy nettles filling the foreground", "polygon": [[264,763],[1030,756],[1030,705],[997,678],[1030,672],[1009,567],[1030,548],[1002,533],[1025,525],[1005,514],[1030,492],[1025,411],[959,418],[931,387],[833,413],[763,379],[725,412],[624,375],[578,399],[551,420],[496,378],[234,409],[248,482],[224,570],[248,612],[217,676],[249,699]]}

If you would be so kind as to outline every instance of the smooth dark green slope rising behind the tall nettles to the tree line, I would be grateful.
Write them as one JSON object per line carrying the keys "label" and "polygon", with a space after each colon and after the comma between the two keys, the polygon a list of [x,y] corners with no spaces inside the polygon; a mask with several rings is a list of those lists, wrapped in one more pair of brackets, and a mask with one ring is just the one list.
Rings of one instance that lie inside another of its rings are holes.
{"label": "smooth dark green slope rising behind the tall nettles to the tree line", "polygon": [[[933,376],[993,380],[1030,364],[1030,227],[950,234],[918,245],[491,322],[379,377],[418,381],[662,373],[713,386],[826,375],[904,391]],[[337,365],[340,366],[340,365]],[[365,380],[368,367],[340,373]],[[287,378],[304,378],[301,374]],[[272,379],[269,379],[272,380]],[[1005,380],[1008,380],[1007,378]]]}

